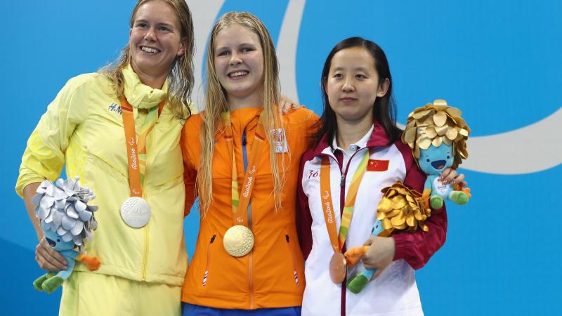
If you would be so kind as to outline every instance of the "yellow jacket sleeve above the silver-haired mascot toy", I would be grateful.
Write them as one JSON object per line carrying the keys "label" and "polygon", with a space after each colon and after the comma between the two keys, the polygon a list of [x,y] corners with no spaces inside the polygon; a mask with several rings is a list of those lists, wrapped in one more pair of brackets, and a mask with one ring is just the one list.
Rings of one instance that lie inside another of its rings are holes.
{"label": "yellow jacket sleeve above the silver-haired mascot toy", "polygon": [[72,133],[84,117],[87,102],[87,75],[70,79],[47,107],[27,140],[15,192],[22,197],[31,183],[55,180],[65,164],[65,150]]}

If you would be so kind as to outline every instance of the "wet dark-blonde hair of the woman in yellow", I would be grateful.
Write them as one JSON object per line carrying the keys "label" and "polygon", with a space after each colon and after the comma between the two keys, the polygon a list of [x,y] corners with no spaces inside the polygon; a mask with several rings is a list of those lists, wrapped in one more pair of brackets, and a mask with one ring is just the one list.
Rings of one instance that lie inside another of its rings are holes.
{"label": "wet dark-blonde hair of the woman in yellow", "polygon": [[[190,115],[190,96],[193,88],[193,54],[195,53],[195,36],[193,35],[193,22],[191,19],[191,12],[185,0],[138,0],[133,13],[131,13],[131,20],[129,26],[133,27],[135,15],[141,6],[150,1],[163,1],[164,3],[174,8],[178,15],[178,20],[181,27],[181,39],[185,46],[185,51],[182,55],[176,57],[170,72],[168,74],[168,93],[167,100],[171,105],[172,110],[179,118],[187,118]],[[124,96],[124,77],[123,69],[131,62],[131,54],[129,52],[129,44],[127,44],[121,51],[119,58],[111,65],[107,65],[98,72],[105,74],[109,78],[117,93],[117,98]],[[187,110],[187,115],[184,110]]]}

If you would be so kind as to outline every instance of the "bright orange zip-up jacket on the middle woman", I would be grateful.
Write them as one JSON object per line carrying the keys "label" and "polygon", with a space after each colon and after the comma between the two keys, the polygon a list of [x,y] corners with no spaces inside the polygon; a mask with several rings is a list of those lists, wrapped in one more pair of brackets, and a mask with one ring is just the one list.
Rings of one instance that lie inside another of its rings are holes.
{"label": "bright orange zip-up jacket on the middle woman", "polygon": [[[230,114],[239,187],[244,180],[242,133],[246,129],[247,152],[250,154],[260,112],[259,108],[243,108]],[[277,213],[273,205],[269,143],[264,142],[251,193],[254,250],[242,258],[230,256],[223,248],[224,233],[233,226],[232,162],[224,135],[216,137],[212,167],[213,202],[207,216],[201,214],[197,246],[183,283],[182,301],[213,308],[246,310],[301,305],[305,282],[295,226],[296,182],[301,155],[308,147],[307,136],[312,133],[316,121],[318,116],[305,108],[283,116],[289,153],[278,153],[285,155],[285,186],[282,209]],[[185,122],[181,136],[186,213],[196,196],[201,126],[201,114],[192,115]]]}

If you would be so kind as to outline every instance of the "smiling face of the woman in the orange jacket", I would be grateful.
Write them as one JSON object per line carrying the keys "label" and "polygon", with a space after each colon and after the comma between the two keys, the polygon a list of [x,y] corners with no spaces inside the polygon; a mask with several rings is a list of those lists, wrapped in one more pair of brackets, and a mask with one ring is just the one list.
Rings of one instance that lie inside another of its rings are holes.
{"label": "smiling face of the woman in the orange jacket", "polygon": [[236,23],[222,29],[214,39],[214,66],[231,108],[260,105],[263,50],[257,34]]}

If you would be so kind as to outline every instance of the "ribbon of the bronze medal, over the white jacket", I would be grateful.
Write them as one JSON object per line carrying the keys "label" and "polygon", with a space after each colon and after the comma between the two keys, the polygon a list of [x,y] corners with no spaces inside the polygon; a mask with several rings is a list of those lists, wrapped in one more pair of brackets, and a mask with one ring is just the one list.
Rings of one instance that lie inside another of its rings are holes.
{"label": "ribbon of the bronze medal, over the white jacket", "polygon": [[344,204],[344,212],[341,214],[341,223],[339,225],[339,234],[336,235],[336,219],[334,217],[334,204],[332,203],[332,189],[330,187],[330,164],[327,155],[322,156],[322,166],[320,166],[320,196],[322,197],[322,210],[324,211],[324,219],[326,220],[326,228],[328,230],[329,241],[332,244],[334,252],[341,252],[346,242],[347,232],[351,223],[351,217],[355,209],[355,198],[359,190],[359,184],[365,171],[367,171],[367,162],[369,161],[370,150],[365,150],[365,154],[353,173],[351,185],[346,196]]}

